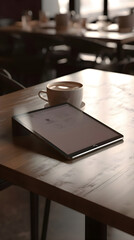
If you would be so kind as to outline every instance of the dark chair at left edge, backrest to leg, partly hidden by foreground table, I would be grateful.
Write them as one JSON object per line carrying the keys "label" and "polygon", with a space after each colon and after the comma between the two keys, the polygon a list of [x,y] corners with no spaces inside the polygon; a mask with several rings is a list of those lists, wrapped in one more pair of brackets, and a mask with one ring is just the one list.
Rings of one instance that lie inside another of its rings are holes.
{"label": "dark chair at left edge, backrest to leg, partly hidden by foreground table", "polygon": [[[24,86],[13,80],[10,73],[0,69],[0,95],[24,89]],[[12,184],[5,179],[0,179],[0,191]],[[31,240],[38,240],[38,201],[37,194],[30,192],[30,217],[31,217]]]}

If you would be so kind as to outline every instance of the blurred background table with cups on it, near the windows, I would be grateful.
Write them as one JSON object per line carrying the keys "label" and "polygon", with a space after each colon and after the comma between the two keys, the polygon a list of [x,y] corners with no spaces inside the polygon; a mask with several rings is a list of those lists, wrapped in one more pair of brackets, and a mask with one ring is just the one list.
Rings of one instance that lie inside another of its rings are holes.
{"label": "blurred background table with cups on it, near the windows", "polygon": [[[122,45],[126,43],[130,43],[134,41],[134,32],[128,32],[128,33],[121,33],[118,31],[115,31],[115,29],[108,30],[108,31],[87,31],[86,29],[78,28],[78,27],[71,27],[68,29],[68,31],[62,31],[58,32],[56,31],[54,21],[52,23],[46,23],[46,25],[40,27],[38,25],[38,22],[35,21],[31,24],[30,29],[23,29],[21,26],[21,22],[18,22],[16,25],[11,25],[8,27],[1,27],[0,28],[1,33],[16,33],[16,34],[33,34],[33,37],[35,35],[38,36],[49,36],[51,38],[58,37],[59,39],[66,39],[66,37],[71,36],[75,37],[75,40],[77,41],[77,37],[81,39],[86,40],[99,40],[102,42],[113,42],[117,45],[117,57],[119,60],[123,58],[122,56]],[[77,42],[76,42],[77,44]]]}

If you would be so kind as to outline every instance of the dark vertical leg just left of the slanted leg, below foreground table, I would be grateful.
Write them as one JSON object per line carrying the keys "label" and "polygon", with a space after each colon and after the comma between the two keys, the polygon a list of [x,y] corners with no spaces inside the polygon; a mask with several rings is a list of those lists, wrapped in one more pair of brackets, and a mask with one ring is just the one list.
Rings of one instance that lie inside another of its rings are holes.
{"label": "dark vertical leg just left of the slanted leg, below foreground table", "polygon": [[38,240],[39,196],[30,192],[31,240]]}

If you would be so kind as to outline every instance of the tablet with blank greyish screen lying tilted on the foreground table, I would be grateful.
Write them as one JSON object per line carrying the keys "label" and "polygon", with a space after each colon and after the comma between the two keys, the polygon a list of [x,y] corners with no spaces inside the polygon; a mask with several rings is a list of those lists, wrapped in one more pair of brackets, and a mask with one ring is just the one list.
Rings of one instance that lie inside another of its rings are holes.
{"label": "tablet with blank greyish screen lying tilted on the foreground table", "polygon": [[74,159],[123,140],[123,135],[76,107],[65,103],[13,116],[67,159]]}

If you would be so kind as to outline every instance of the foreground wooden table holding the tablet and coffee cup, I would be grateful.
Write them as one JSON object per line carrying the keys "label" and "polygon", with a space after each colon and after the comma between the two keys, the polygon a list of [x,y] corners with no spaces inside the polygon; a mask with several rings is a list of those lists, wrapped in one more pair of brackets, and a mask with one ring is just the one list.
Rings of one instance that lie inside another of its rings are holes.
{"label": "foreground wooden table holding the tablet and coffee cup", "polygon": [[82,82],[83,110],[124,142],[67,162],[38,138],[14,138],[11,117],[44,106],[42,83],[0,97],[0,176],[83,213],[88,240],[106,240],[107,225],[134,235],[134,77],[87,69],[57,80]]}

